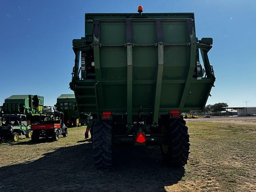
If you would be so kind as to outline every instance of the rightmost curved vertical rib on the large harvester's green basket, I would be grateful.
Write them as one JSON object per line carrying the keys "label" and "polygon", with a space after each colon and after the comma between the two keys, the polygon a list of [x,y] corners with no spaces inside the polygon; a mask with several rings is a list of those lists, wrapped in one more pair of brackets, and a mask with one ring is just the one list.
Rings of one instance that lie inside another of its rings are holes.
{"label": "rightmost curved vertical rib on the large harvester's green basket", "polygon": [[189,62],[188,75],[185,82],[183,94],[180,99],[179,108],[184,108],[185,102],[188,97],[188,93],[190,92],[193,73],[196,68],[196,34],[194,30],[195,28],[194,28],[193,20],[187,19],[187,25],[188,25],[188,34],[189,34],[190,43],[191,43],[190,44],[190,62]]}

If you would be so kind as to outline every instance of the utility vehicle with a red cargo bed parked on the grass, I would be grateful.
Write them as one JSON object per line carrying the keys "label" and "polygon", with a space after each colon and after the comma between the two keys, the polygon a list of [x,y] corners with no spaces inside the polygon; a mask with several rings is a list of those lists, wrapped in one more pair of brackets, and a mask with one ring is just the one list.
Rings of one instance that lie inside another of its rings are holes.
{"label": "utility vehicle with a red cargo bed parked on the grass", "polygon": [[39,141],[40,137],[52,137],[53,140],[59,140],[60,135],[68,136],[68,128],[64,124],[63,112],[47,112],[40,114],[40,123],[32,124],[32,141]]}

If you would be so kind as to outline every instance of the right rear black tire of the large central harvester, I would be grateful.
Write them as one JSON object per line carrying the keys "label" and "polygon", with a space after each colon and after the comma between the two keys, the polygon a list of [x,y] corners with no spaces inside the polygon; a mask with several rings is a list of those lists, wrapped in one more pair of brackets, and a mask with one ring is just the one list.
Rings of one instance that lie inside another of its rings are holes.
{"label": "right rear black tire of the large central harvester", "polygon": [[170,166],[183,167],[190,153],[188,127],[183,119],[172,120],[164,126],[168,139],[160,144],[163,159]]}

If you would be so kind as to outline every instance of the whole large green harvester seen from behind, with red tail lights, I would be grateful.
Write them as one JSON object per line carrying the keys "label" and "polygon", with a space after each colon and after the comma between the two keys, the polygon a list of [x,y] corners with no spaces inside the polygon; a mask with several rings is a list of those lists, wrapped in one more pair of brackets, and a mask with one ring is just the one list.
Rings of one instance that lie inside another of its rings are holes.
{"label": "whole large green harvester seen from behind, with red tail lights", "polygon": [[70,88],[87,116],[96,167],[109,168],[121,142],[156,142],[169,165],[187,163],[180,113],[206,104],[215,81],[211,48],[212,38],[196,38],[193,13],[85,14]]}

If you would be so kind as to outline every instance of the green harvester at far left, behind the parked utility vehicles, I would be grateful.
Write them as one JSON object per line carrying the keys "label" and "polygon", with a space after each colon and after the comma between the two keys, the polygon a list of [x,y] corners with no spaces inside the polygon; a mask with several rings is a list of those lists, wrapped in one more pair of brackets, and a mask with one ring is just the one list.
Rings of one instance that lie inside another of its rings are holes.
{"label": "green harvester at far left, behind the parked utility vehicles", "polygon": [[44,97],[38,95],[12,95],[4,100],[1,112],[4,114],[24,114],[28,124],[39,122],[43,112]]}

